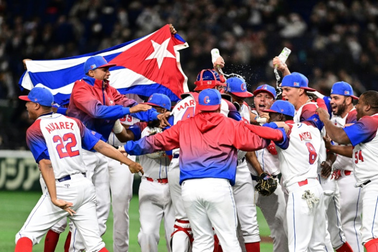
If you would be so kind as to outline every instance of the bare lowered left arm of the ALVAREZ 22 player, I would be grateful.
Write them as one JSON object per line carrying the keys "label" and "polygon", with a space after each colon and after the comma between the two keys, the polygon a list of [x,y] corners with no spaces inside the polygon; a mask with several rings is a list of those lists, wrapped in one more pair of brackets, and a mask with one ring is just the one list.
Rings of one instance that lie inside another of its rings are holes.
{"label": "bare lowered left arm of the ALVAREZ 22 player", "polygon": [[76,213],[71,209],[73,205],[72,202],[67,202],[56,197],[55,175],[54,170],[52,169],[51,161],[48,159],[42,159],[39,162],[39,165],[43,180],[45,181],[47,190],[49,191],[52,204],[62,208],[71,215],[73,215],[73,213]]}

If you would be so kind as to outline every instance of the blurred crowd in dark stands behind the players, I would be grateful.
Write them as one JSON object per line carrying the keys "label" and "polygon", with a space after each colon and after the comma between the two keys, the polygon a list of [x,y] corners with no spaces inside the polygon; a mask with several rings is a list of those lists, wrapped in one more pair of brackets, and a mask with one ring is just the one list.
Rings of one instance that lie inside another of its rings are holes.
{"label": "blurred crowd in dark stands behind the players", "polygon": [[190,89],[211,68],[212,48],[224,72],[245,78],[250,91],[275,85],[274,56],[288,47],[287,64],[329,94],[336,81],[357,95],[378,87],[378,3],[374,0],[0,0],[0,149],[25,148],[29,126],[18,80],[22,60],[58,59],[98,51],[172,23],[189,48],[181,64]]}

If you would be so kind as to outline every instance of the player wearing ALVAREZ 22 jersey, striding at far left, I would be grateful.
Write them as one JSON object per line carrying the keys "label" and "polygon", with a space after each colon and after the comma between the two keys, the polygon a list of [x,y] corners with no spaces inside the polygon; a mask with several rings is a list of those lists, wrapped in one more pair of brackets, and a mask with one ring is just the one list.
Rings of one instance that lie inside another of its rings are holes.
{"label": "player wearing ALVAREZ 22 jersey, striding at far left", "polygon": [[143,171],[142,167],[101,141],[101,135],[89,131],[78,119],[53,114],[53,96],[48,89],[35,87],[20,99],[28,101],[28,116],[35,120],[27,130],[26,140],[47,191],[17,232],[15,251],[32,251],[47,230],[67,216],[83,237],[87,251],[108,251],[97,223],[95,190],[85,178],[82,148],[115,158],[133,172]]}

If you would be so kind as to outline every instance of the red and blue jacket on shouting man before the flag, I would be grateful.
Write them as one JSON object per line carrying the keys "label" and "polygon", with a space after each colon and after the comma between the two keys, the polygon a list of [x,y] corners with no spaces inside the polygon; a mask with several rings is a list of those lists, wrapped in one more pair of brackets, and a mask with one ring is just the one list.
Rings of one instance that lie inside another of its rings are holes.
{"label": "red and blue jacket on shouting man before the flag", "polygon": [[[130,114],[130,107],[138,103],[121,95],[116,88],[106,82],[85,76],[75,81],[69,100],[68,116],[80,119],[84,125],[102,135],[107,141],[117,119]],[[146,112],[132,113],[143,121],[156,120],[158,112],[150,109]]]}

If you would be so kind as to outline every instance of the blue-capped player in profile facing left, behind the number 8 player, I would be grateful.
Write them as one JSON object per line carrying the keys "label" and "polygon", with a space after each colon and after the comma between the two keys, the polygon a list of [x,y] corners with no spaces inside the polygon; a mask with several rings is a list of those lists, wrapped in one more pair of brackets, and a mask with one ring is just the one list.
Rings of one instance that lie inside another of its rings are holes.
{"label": "blue-capped player in profile facing left, behind the number 8 player", "polygon": [[[295,107],[295,122],[301,122],[311,118],[316,112],[318,106],[327,109],[327,106],[323,99],[316,99],[313,102],[308,96],[307,92],[314,92],[315,89],[308,86],[308,79],[300,73],[292,73],[285,76],[282,79],[282,98],[292,103]],[[324,129],[322,130],[322,136],[325,136]],[[336,251],[351,251],[350,245],[347,243],[344,230],[342,227],[340,217],[340,195],[338,193],[338,187],[331,177],[323,178],[322,169],[333,162],[333,160],[327,156],[324,142],[320,143],[322,146],[319,152],[319,166],[318,166],[318,180],[322,185],[325,193],[325,206],[327,214],[327,233],[326,246],[328,250],[333,248]]]}

